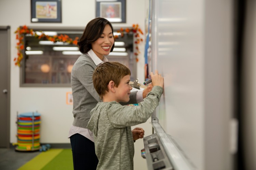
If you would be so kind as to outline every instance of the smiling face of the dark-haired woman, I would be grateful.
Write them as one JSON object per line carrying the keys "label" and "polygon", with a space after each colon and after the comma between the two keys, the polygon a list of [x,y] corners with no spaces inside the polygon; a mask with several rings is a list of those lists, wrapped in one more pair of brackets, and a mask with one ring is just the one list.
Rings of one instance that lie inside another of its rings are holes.
{"label": "smiling face of the dark-haired woman", "polygon": [[91,43],[91,49],[100,58],[103,59],[104,55],[109,55],[110,50],[114,44],[114,36],[109,24],[106,24],[101,36]]}

